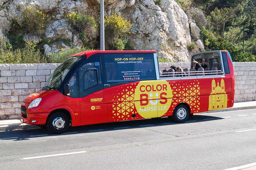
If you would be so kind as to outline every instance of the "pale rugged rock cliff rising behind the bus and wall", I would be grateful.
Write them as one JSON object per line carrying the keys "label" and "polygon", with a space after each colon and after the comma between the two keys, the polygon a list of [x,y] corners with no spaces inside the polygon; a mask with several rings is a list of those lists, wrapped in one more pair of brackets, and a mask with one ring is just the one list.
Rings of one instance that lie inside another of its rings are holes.
{"label": "pale rugged rock cliff rising behind the bus and wall", "polygon": [[[65,20],[65,14],[80,12],[99,18],[100,0],[0,0],[0,36],[5,36],[11,28],[13,19],[19,20],[24,6],[36,6],[51,16],[45,36],[49,39],[70,39],[73,46],[81,46],[79,36],[72,33]],[[118,13],[131,21],[129,44],[136,50],[156,50],[158,56],[171,61],[188,62],[190,51],[187,43],[196,41],[199,50],[203,43],[199,28],[188,21],[185,12],[174,0],[161,0],[155,5],[153,0],[105,0],[105,16]],[[99,37],[99,32],[98,32]],[[91,44],[97,43],[95,38]],[[45,45],[48,53],[58,52],[67,44]]]}

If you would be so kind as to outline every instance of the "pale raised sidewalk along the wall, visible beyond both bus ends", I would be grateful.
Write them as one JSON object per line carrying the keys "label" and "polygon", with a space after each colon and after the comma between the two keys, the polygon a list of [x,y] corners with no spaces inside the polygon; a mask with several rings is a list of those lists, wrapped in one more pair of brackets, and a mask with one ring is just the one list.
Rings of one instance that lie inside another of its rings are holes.
{"label": "pale raised sidewalk along the wall, visible beyond both bus ends", "polygon": [[[256,101],[239,102],[239,103],[235,103],[232,108],[208,111],[204,113],[225,112],[225,111],[245,110],[245,109],[256,109]],[[38,127],[35,125],[28,125],[28,124],[21,123],[20,119],[0,120],[0,131],[29,129],[29,128],[38,128]]]}

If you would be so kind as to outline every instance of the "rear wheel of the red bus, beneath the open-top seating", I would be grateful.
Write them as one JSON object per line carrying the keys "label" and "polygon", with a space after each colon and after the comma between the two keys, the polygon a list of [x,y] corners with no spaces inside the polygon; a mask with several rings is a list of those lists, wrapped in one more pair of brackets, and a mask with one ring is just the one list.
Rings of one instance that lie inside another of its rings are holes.
{"label": "rear wheel of the red bus, beneath the open-top seating", "polygon": [[172,113],[172,120],[177,123],[185,122],[188,119],[189,110],[184,104],[179,104],[175,107]]}

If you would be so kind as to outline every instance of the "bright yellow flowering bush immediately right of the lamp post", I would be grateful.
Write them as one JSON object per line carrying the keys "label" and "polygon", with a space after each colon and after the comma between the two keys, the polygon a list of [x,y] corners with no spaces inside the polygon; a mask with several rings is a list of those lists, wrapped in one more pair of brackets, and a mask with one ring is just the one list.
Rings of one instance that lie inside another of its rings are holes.
{"label": "bright yellow flowering bush immediately right of the lamp post", "polygon": [[131,29],[131,23],[124,20],[121,16],[113,14],[105,17],[105,41],[110,49],[114,49],[115,42],[118,39],[124,38]]}

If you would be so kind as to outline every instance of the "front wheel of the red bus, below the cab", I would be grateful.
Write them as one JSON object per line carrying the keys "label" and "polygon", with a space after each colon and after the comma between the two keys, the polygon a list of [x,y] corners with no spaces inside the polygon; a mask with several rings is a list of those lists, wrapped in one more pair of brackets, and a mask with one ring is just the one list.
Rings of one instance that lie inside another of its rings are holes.
{"label": "front wheel of the red bus, below the cab", "polygon": [[47,119],[47,129],[51,133],[64,133],[69,128],[69,118],[61,112],[55,112]]}

